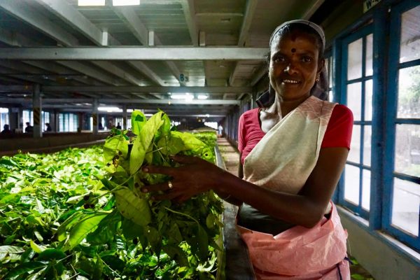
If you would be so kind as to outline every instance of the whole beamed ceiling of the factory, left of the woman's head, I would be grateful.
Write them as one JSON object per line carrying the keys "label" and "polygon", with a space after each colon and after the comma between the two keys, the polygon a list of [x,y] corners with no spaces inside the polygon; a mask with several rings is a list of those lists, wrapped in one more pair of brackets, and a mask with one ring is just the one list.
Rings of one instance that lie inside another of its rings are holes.
{"label": "whole beamed ceiling of the factory, left of the woman's head", "polygon": [[[221,120],[265,76],[274,28],[309,19],[324,1],[0,1],[0,105],[92,111],[159,108],[169,117]],[[188,92],[194,99],[173,99]],[[204,95],[207,99],[198,99]]]}

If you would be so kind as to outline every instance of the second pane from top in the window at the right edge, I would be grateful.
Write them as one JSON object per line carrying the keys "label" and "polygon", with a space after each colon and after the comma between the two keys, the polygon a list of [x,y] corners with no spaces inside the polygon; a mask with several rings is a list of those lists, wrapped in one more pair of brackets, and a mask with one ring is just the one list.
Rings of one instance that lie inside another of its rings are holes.
{"label": "second pane from top in the window at the right edge", "polygon": [[420,118],[420,66],[400,69],[398,118]]}

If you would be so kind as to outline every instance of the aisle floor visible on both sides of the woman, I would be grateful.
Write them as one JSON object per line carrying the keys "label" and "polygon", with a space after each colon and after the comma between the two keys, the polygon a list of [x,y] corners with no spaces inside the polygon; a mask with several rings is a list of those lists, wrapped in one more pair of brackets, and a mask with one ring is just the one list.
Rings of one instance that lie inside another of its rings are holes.
{"label": "aisle floor visible on both sides of the woman", "polygon": [[[218,138],[217,144],[221,152],[223,161],[225,162],[228,172],[237,175],[239,164],[239,152],[237,148],[232,146],[225,138]],[[351,258],[351,257],[350,257]],[[355,260],[351,258],[352,260]],[[351,279],[353,280],[373,280],[373,277],[360,264],[355,261],[354,265],[350,266]]]}

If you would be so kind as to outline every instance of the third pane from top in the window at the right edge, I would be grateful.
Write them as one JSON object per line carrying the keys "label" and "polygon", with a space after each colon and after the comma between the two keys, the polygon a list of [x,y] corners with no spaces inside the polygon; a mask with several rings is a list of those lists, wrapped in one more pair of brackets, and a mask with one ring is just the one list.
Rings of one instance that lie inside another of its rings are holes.
{"label": "third pane from top in the window at the right edge", "polygon": [[420,125],[397,125],[394,169],[420,177]]}

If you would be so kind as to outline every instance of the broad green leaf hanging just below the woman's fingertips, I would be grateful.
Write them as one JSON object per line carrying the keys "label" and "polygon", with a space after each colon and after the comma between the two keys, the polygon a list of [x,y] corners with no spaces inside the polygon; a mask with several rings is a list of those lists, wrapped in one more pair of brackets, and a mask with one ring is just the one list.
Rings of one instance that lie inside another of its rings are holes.
{"label": "broad green leaf hanging just below the woman's fingertips", "polygon": [[120,214],[137,225],[147,225],[151,222],[151,209],[148,201],[138,197],[128,188],[115,192],[116,205]]}

